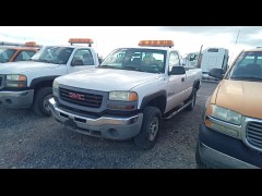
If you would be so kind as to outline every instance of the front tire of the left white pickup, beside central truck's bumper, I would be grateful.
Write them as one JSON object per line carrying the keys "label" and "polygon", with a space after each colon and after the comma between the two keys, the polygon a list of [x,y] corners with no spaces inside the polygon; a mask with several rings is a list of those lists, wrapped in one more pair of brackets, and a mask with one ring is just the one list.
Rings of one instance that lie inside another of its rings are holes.
{"label": "front tire of the left white pickup, beside central truck's bumper", "polygon": [[43,87],[35,94],[33,111],[40,117],[50,117],[51,113],[47,109],[48,98],[52,96],[51,87]]}

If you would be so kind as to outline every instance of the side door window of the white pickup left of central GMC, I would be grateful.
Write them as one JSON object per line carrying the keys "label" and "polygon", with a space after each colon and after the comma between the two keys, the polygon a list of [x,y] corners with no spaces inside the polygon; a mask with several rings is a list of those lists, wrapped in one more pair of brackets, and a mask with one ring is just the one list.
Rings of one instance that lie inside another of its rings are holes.
{"label": "side door window of the white pickup left of central GMC", "polygon": [[90,49],[79,49],[73,57],[71,64],[74,65],[94,65],[94,59]]}

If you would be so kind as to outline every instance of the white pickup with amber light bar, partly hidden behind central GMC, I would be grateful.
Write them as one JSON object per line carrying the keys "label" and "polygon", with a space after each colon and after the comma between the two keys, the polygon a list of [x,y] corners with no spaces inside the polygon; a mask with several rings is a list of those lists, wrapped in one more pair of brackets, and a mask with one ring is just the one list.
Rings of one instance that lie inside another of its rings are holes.
{"label": "white pickup with amber light bar, partly hidden behind central GMC", "polygon": [[53,79],[99,64],[98,54],[91,47],[92,39],[70,39],[69,42],[71,45],[45,46],[31,61],[1,65],[0,106],[13,109],[32,107],[39,115],[50,115],[47,103],[52,97]]}

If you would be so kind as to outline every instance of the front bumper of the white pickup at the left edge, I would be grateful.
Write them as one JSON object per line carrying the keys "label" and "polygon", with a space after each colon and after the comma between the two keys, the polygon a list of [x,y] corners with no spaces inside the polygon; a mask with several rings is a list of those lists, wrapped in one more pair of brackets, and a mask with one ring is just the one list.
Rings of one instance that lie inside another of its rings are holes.
{"label": "front bumper of the white pickup at the left edge", "polygon": [[5,108],[28,108],[34,100],[34,89],[23,91],[0,91],[0,106]]}

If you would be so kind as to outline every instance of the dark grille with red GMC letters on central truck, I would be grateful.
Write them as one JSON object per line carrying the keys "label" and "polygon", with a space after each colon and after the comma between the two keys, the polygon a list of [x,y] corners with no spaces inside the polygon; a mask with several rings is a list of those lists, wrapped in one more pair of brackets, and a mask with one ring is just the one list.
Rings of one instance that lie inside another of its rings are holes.
{"label": "dark grille with red GMC letters on central truck", "polygon": [[83,107],[100,108],[103,101],[102,95],[87,94],[66,88],[59,88],[59,91],[62,100]]}

